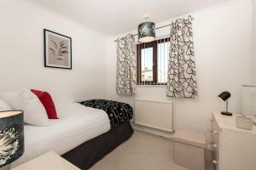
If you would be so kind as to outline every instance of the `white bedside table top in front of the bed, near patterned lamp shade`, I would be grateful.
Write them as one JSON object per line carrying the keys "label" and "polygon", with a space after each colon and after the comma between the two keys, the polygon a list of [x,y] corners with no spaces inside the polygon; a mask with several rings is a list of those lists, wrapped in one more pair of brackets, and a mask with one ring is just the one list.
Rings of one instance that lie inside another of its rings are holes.
{"label": "white bedside table top in front of the bed, near patterned lamp shade", "polygon": [[31,161],[21,164],[12,170],[80,170],[70,162],[58,156],[53,151],[49,151],[42,156],[38,156]]}

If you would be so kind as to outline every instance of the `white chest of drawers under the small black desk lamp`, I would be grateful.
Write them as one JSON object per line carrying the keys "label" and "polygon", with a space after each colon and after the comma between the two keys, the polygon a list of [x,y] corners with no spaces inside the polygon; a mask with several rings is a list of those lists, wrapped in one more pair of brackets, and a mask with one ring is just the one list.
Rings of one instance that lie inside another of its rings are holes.
{"label": "white chest of drawers under the small black desk lamp", "polygon": [[236,115],[212,112],[212,156],[217,170],[256,170],[256,127],[236,127]]}

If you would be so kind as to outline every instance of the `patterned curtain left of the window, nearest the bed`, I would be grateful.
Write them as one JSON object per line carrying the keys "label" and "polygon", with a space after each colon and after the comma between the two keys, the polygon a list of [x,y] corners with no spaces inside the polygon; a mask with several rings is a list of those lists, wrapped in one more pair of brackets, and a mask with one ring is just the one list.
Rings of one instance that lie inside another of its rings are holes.
{"label": "patterned curtain left of the window, nearest the bed", "polygon": [[116,92],[120,95],[135,94],[136,86],[136,45],[129,34],[117,41]]}

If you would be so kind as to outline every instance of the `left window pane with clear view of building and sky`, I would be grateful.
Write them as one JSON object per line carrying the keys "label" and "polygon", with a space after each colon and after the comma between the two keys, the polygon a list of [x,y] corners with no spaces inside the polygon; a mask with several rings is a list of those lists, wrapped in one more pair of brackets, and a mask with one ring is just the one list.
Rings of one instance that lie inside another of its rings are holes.
{"label": "left window pane with clear view of building and sky", "polygon": [[141,50],[141,80],[144,82],[153,81],[153,48],[143,48]]}

